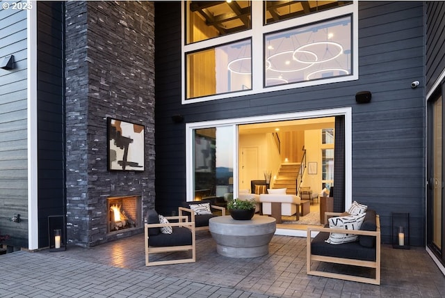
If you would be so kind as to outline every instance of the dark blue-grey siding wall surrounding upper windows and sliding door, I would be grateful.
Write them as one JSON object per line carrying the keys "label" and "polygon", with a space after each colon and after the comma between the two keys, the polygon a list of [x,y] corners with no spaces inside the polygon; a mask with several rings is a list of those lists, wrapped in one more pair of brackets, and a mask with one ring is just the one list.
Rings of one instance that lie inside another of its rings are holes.
{"label": "dark blue-grey siding wall surrounding upper windows and sliding door", "polygon": [[[377,210],[382,241],[391,212],[410,212],[411,244],[424,244],[423,3],[359,1],[359,79],[181,106],[179,3],[156,6],[156,208],[186,199],[185,122],[353,108],[353,200]],[[355,93],[371,91],[369,104]]]}

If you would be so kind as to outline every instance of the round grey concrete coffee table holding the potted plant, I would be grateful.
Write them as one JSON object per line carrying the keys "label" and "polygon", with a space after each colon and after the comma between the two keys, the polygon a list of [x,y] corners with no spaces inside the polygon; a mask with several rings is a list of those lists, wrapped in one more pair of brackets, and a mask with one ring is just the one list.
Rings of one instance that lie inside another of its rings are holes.
{"label": "round grey concrete coffee table holding the potted plant", "polygon": [[255,258],[269,253],[269,242],[276,230],[273,217],[255,215],[248,221],[236,221],[230,216],[209,220],[216,251],[230,258]]}

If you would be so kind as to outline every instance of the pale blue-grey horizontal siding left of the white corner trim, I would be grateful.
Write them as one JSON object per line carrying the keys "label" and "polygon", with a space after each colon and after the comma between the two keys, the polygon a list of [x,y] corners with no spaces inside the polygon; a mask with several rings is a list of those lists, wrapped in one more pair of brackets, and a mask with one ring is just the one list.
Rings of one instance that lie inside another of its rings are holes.
{"label": "pale blue-grey horizontal siding left of the white corner trim", "polygon": [[26,10],[0,8],[0,61],[15,58],[13,70],[0,69],[0,234],[19,247],[28,247],[26,42]]}

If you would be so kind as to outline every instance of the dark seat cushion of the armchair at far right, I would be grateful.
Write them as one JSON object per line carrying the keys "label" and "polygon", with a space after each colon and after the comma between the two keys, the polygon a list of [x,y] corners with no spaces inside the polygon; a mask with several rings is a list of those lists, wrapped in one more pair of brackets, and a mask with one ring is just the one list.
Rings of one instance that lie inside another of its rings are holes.
{"label": "dark seat cushion of the armchair at far right", "polygon": [[311,253],[313,255],[375,261],[375,248],[361,246],[358,241],[329,244],[325,242],[328,237],[328,232],[320,232],[316,235],[311,242]]}

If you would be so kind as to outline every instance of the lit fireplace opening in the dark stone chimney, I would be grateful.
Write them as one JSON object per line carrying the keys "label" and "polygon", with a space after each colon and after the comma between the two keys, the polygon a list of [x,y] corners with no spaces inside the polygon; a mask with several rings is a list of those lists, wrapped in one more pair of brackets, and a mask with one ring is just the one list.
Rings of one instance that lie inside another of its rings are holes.
{"label": "lit fireplace opening in the dark stone chimney", "polygon": [[140,227],[140,197],[108,198],[108,233]]}

